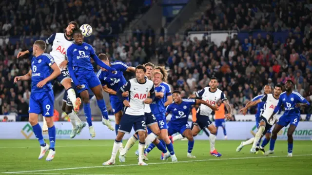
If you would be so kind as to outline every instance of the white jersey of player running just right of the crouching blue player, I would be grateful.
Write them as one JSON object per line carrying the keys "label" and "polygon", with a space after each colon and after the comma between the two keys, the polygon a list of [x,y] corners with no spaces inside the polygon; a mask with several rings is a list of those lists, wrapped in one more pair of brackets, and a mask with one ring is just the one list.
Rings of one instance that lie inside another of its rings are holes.
{"label": "white jersey of player running just right of the crouching blue player", "polygon": [[[202,97],[202,100],[206,101],[208,104],[215,106],[215,104],[221,99],[226,100],[224,93],[220,89],[216,89],[215,92],[210,92],[210,87],[205,87],[195,93],[196,97]],[[212,109],[204,104],[201,104],[197,109],[197,113],[202,116],[207,116],[212,113]]]}

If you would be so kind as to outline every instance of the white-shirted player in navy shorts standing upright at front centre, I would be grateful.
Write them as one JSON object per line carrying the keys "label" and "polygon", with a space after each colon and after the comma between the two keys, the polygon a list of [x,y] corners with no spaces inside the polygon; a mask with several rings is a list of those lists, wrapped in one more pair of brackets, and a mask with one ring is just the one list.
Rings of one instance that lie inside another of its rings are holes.
{"label": "white-shirted player in navy shorts standing upright at front centre", "polygon": [[[117,96],[125,105],[124,114],[120,120],[120,127],[114,142],[111,158],[104,162],[103,165],[115,164],[117,152],[120,148],[121,140],[125,133],[130,133],[134,127],[135,133],[139,136],[139,157],[138,165],[147,165],[143,161],[144,146],[145,146],[145,116],[144,104],[151,104],[155,99],[154,84],[151,80],[144,77],[146,68],[142,65],[136,67],[136,78],[132,78],[117,91]],[[122,97],[122,93],[129,91],[130,98],[127,100]],[[148,94],[150,93],[150,98]]]}

